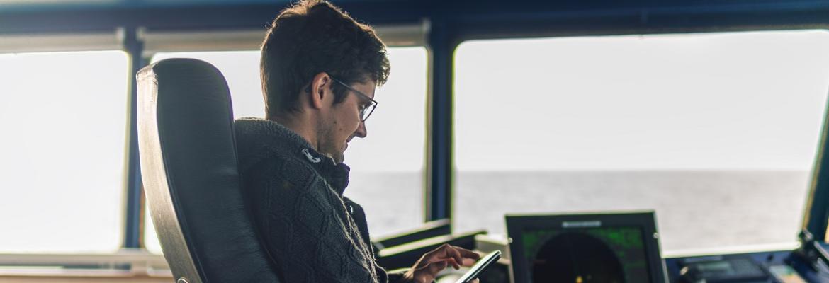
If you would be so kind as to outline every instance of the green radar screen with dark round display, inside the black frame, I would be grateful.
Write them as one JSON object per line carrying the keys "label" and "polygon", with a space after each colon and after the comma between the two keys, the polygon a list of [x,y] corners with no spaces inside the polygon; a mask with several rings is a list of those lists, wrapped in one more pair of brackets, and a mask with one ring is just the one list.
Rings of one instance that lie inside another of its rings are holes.
{"label": "green radar screen with dark round display, inside the black frame", "polygon": [[522,239],[534,283],[650,282],[639,228],[532,230]]}

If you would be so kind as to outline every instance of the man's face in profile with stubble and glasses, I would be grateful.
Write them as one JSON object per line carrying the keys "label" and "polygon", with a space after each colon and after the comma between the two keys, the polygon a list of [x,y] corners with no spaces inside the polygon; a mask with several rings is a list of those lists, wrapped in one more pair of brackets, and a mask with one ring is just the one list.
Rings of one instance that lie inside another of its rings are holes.
{"label": "man's face in profile with stubble and glasses", "polygon": [[[356,82],[349,84],[349,86],[374,99],[375,82]],[[319,141],[320,153],[331,156],[337,163],[345,160],[344,153],[348,148],[348,142],[351,142],[352,138],[366,137],[368,134],[366,123],[360,120],[360,109],[369,105],[371,100],[362,98],[360,94],[355,94],[348,89],[345,95],[346,98],[342,103],[332,105],[331,115],[324,122],[325,125],[322,127],[323,131]]]}

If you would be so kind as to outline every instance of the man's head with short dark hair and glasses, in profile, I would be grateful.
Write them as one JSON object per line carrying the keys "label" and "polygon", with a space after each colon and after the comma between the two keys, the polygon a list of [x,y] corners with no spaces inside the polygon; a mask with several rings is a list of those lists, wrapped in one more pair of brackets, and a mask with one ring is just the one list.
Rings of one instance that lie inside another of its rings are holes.
{"label": "man's head with short dark hair and glasses, in profile", "polygon": [[298,124],[312,125],[317,150],[342,162],[347,142],[366,136],[360,110],[389,70],[385,45],[370,26],[329,2],[298,2],[276,17],[262,44],[267,118],[313,120]]}

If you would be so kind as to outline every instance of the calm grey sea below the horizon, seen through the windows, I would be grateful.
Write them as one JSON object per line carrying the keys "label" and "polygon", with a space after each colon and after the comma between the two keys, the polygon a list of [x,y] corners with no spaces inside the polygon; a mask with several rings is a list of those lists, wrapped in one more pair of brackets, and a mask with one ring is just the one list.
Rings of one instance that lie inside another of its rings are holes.
{"label": "calm grey sea below the horizon, seen through the windows", "polygon": [[[453,233],[506,239],[507,213],[653,210],[663,256],[795,247],[807,170],[460,171]],[[424,222],[420,172],[352,171],[346,195],[366,209],[372,237]]]}

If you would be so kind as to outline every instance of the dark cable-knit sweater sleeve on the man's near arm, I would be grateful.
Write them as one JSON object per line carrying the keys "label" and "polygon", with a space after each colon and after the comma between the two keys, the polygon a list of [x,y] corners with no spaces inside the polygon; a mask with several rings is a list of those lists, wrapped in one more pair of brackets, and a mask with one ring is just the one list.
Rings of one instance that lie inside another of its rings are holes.
{"label": "dark cable-knit sweater sleeve on the man's near arm", "polygon": [[289,159],[266,163],[243,182],[254,190],[248,195],[256,222],[284,281],[378,282],[342,201],[313,168]]}

